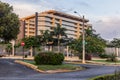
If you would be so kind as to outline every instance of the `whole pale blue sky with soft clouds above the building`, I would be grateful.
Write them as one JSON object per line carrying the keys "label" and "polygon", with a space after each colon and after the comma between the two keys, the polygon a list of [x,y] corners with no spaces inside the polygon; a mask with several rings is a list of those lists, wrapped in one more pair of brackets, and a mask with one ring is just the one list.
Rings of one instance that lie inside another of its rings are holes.
{"label": "whole pale blue sky with soft clouds above the building", "polygon": [[[20,18],[57,10],[89,19],[96,33],[106,40],[120,38],[120,0],[0,0],[9,3]],[[79,13],[75,14],[74,11]]]}

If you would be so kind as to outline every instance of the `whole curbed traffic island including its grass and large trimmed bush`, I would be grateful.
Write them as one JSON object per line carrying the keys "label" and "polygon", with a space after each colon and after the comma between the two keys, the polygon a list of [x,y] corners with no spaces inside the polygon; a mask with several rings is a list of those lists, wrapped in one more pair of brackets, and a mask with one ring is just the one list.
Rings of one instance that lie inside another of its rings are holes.
{"label": "whole curbed traffic island including its grass and large trimmed bush", "polygon": [[42,52],[37,54],[34,60],[17,62],[43,73],[70,72],[85,69],[74,64],[63,63],[63,61],[64,56],[62,53]]}

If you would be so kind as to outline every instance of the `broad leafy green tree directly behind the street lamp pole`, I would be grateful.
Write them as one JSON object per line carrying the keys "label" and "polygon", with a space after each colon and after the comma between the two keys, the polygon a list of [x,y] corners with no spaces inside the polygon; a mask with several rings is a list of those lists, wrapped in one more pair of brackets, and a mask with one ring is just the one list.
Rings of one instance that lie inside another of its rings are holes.
{"label": "broad leafy green tree directly behind the street lamp pole", "polygon": [[[106,46],[106,42],[102,39],[98,34],[94,33],[94,30],[87,29],[85,34],[85,51],[86,53],[102,53],[104,52],[104,48]],[[75,40],[70,47],[77,51],[78,53],[82,53],[82,36],[79,39]]]}

